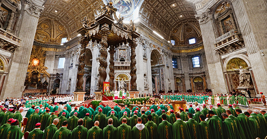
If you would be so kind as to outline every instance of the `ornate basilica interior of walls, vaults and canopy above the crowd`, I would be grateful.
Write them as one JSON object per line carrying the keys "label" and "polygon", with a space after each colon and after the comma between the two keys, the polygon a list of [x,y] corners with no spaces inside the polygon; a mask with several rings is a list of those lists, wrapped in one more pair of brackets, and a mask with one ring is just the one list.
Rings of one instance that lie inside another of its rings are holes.
{"label": "ornate basilica interior of walls, vaults and canopy above the crowd", "polygon": [[266,0],[0,0],[0,13],[0,99],[94,94],[103,81],[140,94],[267,90]]}

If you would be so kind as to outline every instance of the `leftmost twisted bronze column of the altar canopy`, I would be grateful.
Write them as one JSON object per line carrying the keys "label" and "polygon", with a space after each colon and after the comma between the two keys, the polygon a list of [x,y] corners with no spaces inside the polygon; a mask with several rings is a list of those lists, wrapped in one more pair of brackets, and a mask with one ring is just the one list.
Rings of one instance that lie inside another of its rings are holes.
{"label": "leftmost twisted bronze column of the altar canopy", "polygon": [[89,43],[85,38],[83,38],[80,42],[81,52],[79,57],[79,65],[78,65],[78,74],[77,74],[77,84],[76,91],[83,91],[83,75],[84,75],[84,66],[85,66],[85,47]]}

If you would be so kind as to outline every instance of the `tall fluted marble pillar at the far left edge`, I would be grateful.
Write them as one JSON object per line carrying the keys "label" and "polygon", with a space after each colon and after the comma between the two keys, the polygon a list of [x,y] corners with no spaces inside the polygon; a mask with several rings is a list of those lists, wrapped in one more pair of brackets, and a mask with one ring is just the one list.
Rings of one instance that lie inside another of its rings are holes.
{"label": "tall fluted marble pillar at the far left edge", "polygon": [[18,37],[22,40],[21,46],[14,52],[0,99],[20,97],[22,94],[38,19],[45,8],[42,6],[44,2],[44,0],[34,0],[33,3],[30,0],[21,10],[21,27],[18,31]]}

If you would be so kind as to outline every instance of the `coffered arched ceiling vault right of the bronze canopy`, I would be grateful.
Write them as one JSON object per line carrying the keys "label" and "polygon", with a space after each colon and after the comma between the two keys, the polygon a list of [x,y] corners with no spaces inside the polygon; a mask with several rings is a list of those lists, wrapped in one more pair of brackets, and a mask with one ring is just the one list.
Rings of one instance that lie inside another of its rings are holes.
{"label": "coffered arched ceiling vault right of the bronze canopy", "polygon": [[176,27],[197,21],[190,0],[144,0],[139,18],[144,25],[167,40]]}

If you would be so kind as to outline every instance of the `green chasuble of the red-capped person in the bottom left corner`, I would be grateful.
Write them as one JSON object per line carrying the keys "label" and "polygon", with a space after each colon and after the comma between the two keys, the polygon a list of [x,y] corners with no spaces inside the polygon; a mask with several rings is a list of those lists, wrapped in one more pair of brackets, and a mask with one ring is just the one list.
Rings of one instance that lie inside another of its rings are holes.
{"label": "green chasuble of the red-capped person in the bottom left corner", "polygon": [[12,125],[7,129],[4,138],[1,139],[22,139],[22,137],[23,133],[21,132],[21,129],[17,127],[17,125]]}

